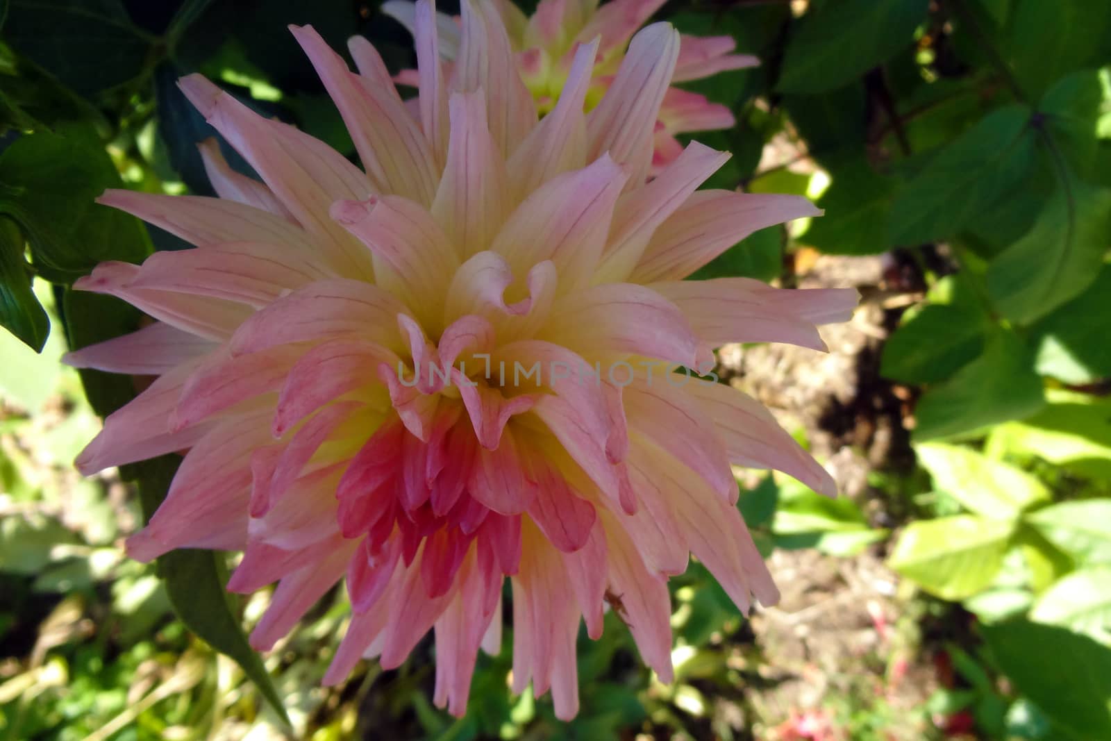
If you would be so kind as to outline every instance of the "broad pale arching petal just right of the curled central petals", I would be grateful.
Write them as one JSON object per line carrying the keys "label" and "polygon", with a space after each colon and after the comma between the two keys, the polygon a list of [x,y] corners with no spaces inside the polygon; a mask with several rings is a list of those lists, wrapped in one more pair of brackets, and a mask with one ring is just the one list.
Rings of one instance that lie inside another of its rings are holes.
{"label": "broad pale arching petal just right of the curled central petals", "polygon": [[[635,283],[603,283],[560,297],[540,337],[588,358],[629,353],[691,368],[699,360],[698,338],[683,312]],[[624,378],[615,366],[607,374],[612,383]]]}

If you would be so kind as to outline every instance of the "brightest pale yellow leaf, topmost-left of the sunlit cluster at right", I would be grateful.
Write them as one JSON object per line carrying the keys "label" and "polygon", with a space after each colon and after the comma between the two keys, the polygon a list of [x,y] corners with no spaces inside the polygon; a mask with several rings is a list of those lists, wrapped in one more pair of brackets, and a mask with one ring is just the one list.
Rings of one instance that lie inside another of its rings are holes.
{"label": "brightest pale yellow leaf, topmost-left of the sunlit cluster at right", "polygon": [[933,478],[934,488],[975,514],[1009,519],[1050,498],[1049,489],[1022,469],[971,448],[931,442],[918,445],[914,452]]}

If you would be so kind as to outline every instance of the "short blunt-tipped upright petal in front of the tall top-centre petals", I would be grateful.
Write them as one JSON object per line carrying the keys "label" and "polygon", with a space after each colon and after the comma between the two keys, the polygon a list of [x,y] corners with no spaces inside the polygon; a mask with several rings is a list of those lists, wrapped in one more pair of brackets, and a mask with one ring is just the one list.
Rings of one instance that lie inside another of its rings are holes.
{"label": "short blunt-tipped upright petal in front of the tall top-centre petals", "polygon": [[482,92],[456,93],[449,104],[448,163],[431,212],[462,257],[487,249],[509,212],[506,163],[487,126]]}

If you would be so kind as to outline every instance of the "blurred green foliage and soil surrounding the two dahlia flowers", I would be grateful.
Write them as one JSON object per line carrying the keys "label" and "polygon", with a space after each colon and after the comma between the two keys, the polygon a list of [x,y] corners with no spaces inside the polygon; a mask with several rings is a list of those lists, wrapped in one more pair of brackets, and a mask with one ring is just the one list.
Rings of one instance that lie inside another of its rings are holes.
{"label": "blurred green foliage and soil surrounding the two dahlia flowers", "polygon": [[286,26],[338,49],[367,36],[394,71],[407,33],[358,0],[0,0],[0,739],[1111,738],[1111,3],[672,0],[658,17],[762,60],[689,83],[737,114],[697,137],[733,152],[710,184],[825,209],[698,277],[863,294],[860,341],[828,337],[830,361],[720,353],[849,495],[738,471],[783,604],[749,621],[693,563],[672,581],[675,683],[609,614],[560,723],[509,694],[508,650],[480,660],[460,720],[430,705],[428,642],[321,688],[341,590],[256,657],[242,628],[268,598],[226,597],[222,555],[123,555],[174,461],[71,469],[136,385],[59,358],[140,317],[68,287],[184,247],[93,199],[212,192],[197,143],[216,132],[176,79],[203,72],[353,157]]}

